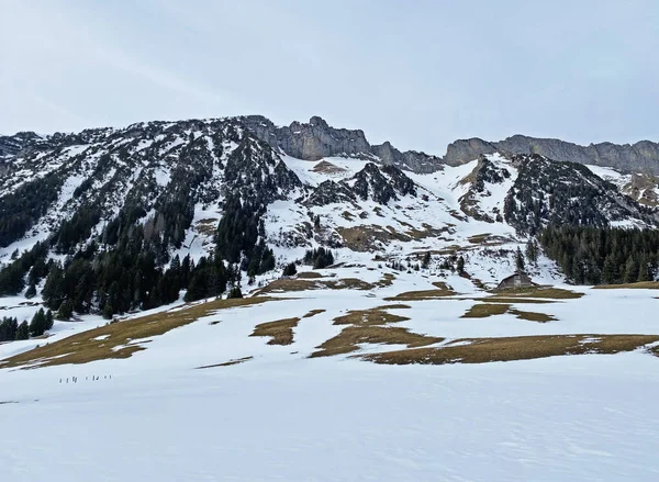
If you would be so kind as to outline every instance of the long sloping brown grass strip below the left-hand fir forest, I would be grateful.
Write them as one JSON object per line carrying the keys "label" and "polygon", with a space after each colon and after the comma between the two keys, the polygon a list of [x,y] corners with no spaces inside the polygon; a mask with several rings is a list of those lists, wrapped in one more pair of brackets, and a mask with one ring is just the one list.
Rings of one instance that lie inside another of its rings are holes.
{"label": "long sloping brown grass strip below the left-hand fir forest", "polygon": [[185,305],[176,311],[112,323],[15,355],[0,361],[0,368],[22,367],[37,362],[38,366],[43,367],[88,363],[108,358],[129,358],[135,351],[146,349],[141,346],[146,341],[139,340],[163,335],[219,310],[247,306],[275,299],[263,296],[215,300],[208,303]]}

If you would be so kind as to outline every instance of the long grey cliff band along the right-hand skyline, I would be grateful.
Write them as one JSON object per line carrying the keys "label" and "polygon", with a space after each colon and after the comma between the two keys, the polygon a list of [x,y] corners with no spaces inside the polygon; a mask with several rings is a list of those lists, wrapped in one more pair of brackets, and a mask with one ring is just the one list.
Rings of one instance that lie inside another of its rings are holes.
{"label": "long grey cliff band along the right-hand skyline", "polygon": [[612,143],[579,146],[559,139],[514,135],[490,143],[480,138],[456,141],[447,147],[444,161],[450,166],[477,159],[481,154],[539,154],[555,160],[613,167],[622,171],[659,173],[659,144],[641,141],[636,144]]}

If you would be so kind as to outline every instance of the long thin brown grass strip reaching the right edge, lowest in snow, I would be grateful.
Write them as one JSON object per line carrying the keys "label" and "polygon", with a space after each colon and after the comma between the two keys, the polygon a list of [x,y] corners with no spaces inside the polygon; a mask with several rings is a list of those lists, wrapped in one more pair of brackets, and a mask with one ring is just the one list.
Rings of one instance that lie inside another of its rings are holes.
{"label": "long thin brown grass strip reaching the right edge, lowest in snow", "polygon": [[[617,354],[659,341],[657,335],[548,335],[456,340],[461,345],[364,355],[387,365],[487,363],[562,355]],[[467,344],[467,345],[465,345]],[[651,349],[655,354],[656,348]]]}

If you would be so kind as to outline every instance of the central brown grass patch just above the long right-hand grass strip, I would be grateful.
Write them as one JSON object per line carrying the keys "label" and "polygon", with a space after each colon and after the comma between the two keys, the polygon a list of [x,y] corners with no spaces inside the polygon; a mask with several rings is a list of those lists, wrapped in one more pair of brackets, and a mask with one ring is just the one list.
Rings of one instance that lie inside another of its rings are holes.
{"label": "central brown grass patch just above the long right-hand grass strip", "polygon": [[349,354],[359,349],[360,344],[406,345],[409,348],[423,347],[443,341],[444,338],[410,333],[407,328],[386,326],[348,326],[334,338],[330,338],[319,347],[319,351],[310,358],[331,357]]}

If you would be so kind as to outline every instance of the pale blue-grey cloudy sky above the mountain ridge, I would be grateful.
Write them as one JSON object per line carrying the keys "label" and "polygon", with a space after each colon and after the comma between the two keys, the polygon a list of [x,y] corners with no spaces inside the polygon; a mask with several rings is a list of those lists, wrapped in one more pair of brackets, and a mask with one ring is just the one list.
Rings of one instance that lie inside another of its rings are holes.
{"label": "pale blue-grey cloudy sky above the mountain ridge", "polygon": [[659,1],[0,0],[0,133],[321,115],[443,155],[659,141]]}

